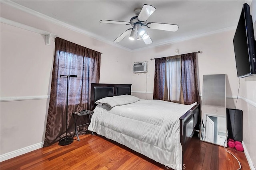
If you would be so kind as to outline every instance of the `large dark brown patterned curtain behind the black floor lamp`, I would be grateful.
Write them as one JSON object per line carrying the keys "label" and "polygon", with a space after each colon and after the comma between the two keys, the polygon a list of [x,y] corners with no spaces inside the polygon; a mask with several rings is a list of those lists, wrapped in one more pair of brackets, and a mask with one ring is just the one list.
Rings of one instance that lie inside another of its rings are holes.
{"label": "large dark brown patterned curtain behind the black floor lamp", "polygon": [[44,147],[66,136],[67,78],[60,75],[70,74],[77,75],[77,78],[70,77],[68,84],[68,136],[73,136],[72,112],[90,109],[90,84],[100,80],[100,53],[57,37]]}

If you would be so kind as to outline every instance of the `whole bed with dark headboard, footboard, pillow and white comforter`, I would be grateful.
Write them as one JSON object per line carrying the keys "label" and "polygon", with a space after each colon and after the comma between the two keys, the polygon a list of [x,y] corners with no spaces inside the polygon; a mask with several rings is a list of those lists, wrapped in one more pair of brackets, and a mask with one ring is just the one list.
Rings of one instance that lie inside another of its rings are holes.
{"label": "whole bed with dark headboard, footboard, pillow and white comforter", "polygon": [[90,109],[94,114],[88,130],[170,168],[182,169],[182,155],[198,124],[199,104],[142,100],[130,95],[130,84],[91,84]]}

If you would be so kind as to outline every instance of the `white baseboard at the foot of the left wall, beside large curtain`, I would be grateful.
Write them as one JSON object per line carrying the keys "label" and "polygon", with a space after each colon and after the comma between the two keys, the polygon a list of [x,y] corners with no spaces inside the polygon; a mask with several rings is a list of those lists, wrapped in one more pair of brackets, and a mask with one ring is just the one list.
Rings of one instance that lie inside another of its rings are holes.
{"label": "white baseboard at the foot of the left wall, beside large curtain", "polygon": [[4,160],[8,160],[10,158],[14,158],[16,156],[20,156],[22,154],[31,152],[31,151],[36,150],[36,149],[40,149],[40,148],[43,147],[43,145],[44,145],[44,142],[40,142],[40,143],[36,143],[34,145],[30,145],[28,147],[24,147],[22,149],[17,149],[17,150],[14,150],[12,152],[7,152],[5,154],[1,154],[0,155],[0,162],[2,162]]}

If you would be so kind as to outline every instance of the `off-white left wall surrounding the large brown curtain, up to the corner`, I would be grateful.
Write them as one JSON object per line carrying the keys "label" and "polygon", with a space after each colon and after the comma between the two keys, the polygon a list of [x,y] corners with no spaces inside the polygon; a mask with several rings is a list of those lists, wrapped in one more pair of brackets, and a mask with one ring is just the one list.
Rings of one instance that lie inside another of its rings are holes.
{"label": "off-white left wall surrounding the large brown curtain, up to the corner", "polygon": [[[62,39],[102,52],[100,83],[131,84],[130,51],[92,39],[6,4],[1,4],[1,17],[54,33]],[[0,26],[2,156],[34,144],[41,147],[44,141],[54,39],[50,39],[51,45],[46,45],[44,35],[5,23]],[[17,99],[18,101],[14,101]]]}

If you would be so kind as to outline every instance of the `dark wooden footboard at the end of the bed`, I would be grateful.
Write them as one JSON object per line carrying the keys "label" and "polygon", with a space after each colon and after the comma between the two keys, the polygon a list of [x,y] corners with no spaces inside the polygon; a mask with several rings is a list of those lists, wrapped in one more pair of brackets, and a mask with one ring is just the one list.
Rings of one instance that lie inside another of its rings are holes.
{"label": "dark wooden footboard at the end of the bed", "polygon": [[184,154],[188,143],[195,132],[195,127],[198,124],[200,104],[196,104],[182,117],[180,117],[180,143],[182,145],[182,154]]}

